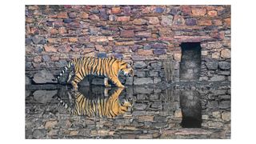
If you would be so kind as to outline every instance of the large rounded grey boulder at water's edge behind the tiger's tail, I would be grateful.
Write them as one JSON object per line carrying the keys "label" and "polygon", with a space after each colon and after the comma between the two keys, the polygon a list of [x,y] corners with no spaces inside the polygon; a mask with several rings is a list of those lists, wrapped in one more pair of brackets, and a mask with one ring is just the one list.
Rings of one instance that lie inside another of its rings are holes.
{"label": "large rounded grey boulder at water's edge behind the tiger's tail", "polygon": [[41,70],[34,74],[33,82],[35,83],[57,83],[54,81],[54,75],[49,70]]}

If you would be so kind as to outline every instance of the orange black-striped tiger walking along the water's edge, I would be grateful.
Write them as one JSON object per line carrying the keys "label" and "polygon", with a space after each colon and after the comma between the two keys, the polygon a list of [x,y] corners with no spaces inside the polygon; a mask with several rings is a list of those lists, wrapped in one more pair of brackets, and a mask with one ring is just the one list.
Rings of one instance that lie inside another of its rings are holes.
{"label": "orange black-striped tiger walking along the water's edge", "polygon": [[104,85],[110,86],[108,80],[110,79],[115,86],[125,87],[118,79],[118,75],[123,73],[125,76],[134,76],[134,70],[131,67],[131,62],[127,63],[120,59],[110,58],[98,58],[98,57],[82,57],[71,60],[59,74],[56,81],[62,77],[67,70],[70,70],[70,74],[66,82],[70,82],[74,90],[78,90],[78,83],[82,81],[87,75],[103,76]]}

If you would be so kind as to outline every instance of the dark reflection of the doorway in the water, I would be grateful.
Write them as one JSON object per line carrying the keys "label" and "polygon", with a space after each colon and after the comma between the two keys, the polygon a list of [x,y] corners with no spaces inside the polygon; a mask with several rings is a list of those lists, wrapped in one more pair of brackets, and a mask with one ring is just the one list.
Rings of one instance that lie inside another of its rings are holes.
{"label": "dark reflection of the doorway in the water", "polygon": [[180,94],[182,108],[182,127],[200,128],[202,124],[202,106],[196,90],[182,90]]}

